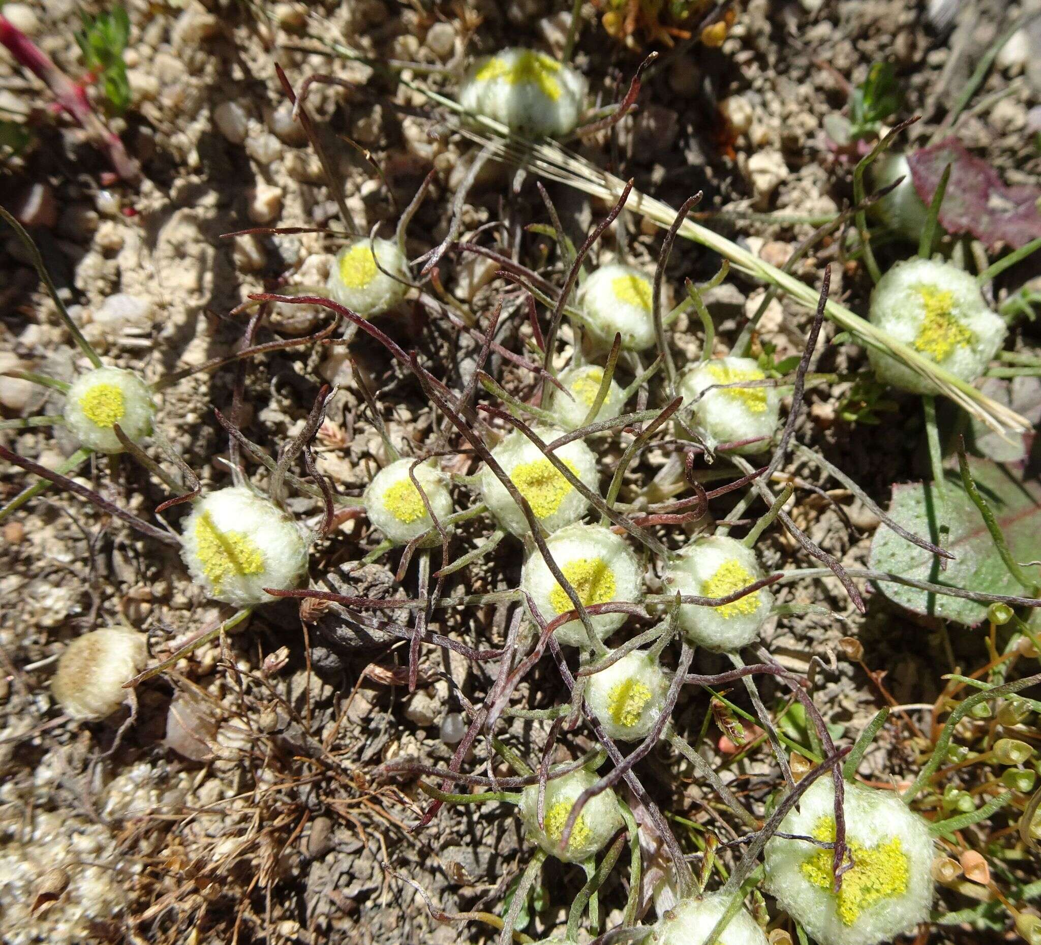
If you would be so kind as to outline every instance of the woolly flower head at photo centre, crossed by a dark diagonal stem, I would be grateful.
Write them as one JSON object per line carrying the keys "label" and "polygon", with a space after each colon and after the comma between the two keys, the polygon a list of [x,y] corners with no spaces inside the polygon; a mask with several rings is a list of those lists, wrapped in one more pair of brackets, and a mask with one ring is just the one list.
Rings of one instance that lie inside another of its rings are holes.
{"label": "woolly flower head at photo centre, crossed by a dark diagonal stem", "polygon": [[[560,435],[560,431],[539,428],[536,435],[550,441]],[[553,463],[519,430],[510,433],[491,455],[503,467],[517,491],[528,500],[535,517],[547,532],[570,525],[581,518],[589,503],[561,474]],[[554,452],[563,464],[590,490],[596,491],[600,472],[596,457],[581,440],[573,440]],[[512,535],[523,536],[529,532],[528,519],[520,507],[513,501],[499,477],[485,465],[481,469],[481,492],[484,502],[499,523]]]}

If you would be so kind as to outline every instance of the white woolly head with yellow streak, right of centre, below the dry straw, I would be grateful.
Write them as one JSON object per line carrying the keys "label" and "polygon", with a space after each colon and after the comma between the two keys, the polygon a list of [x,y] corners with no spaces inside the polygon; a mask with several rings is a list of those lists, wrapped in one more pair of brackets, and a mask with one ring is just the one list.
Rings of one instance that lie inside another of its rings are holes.
{"label": "white woolly head with yellow streak, right of centre, below the dry straw", "polygon": [[[684,407],[693,404],[691,426],[709,448],[719,443],[758,439],[733,453],[754,455],[770,448],[779,426],[781,394],[776,387],[716,387],[742,380],[765,380],[752,358],[712,358],[687,371],[677,387]],[[709,387],[715,389],[699,397]]]}

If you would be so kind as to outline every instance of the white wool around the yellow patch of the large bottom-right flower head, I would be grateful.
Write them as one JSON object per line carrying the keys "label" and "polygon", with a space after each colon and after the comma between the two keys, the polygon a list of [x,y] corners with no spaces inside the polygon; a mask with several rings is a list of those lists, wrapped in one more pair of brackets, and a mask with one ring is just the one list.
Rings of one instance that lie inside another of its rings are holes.
{"label": "white wool around the yellow patch of the large bottom-right flower head", "polygon": [[[859,784],[846,783],[844,811],[847,843],[870,848],[899,840],[908,861],[907,890],[867,905],[853,924],[846,924],[831,890],[804,873],[803,864],[820,847],[805,840],[778,837],[766,844],[767,889],[819,945],[874,945],[912,931],[929,918],[933,901],[930,867],[934,847],[928,824],[908,810],[898,794]],[[810,786],[798,806],[781,822],[780,831],[812,837],[821,820],[834,823],[834,818],[835,786],[824,775]],[[850,873],[844,875],[849,882]]]}

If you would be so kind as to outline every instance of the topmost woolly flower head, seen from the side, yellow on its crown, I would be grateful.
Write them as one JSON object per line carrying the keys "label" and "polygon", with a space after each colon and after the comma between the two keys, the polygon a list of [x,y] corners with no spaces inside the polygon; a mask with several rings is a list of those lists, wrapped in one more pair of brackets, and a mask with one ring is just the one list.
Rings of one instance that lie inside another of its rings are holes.
{"label": "topmost woolly flower head, seen from the side, yellow on its crown", "polygon": [[532,136],[568,134],[578,126],[586,80],[545,53],[504,49],[478,59],[459,90],[459,104]]}

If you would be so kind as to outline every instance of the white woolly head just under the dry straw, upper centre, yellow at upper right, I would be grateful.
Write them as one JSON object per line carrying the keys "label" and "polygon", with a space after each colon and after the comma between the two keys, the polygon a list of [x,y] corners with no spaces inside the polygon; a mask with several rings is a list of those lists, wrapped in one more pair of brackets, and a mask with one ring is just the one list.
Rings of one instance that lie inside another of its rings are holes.
{"label": "white woolly head just under the dry straw, upper centre, yellow at upper right", "polygon": [[631,265],[602,265],[582,283],[578,304],[594,347],[608,349],[615,334],[621,347],[643,351],[655,343],[654,280]]}

